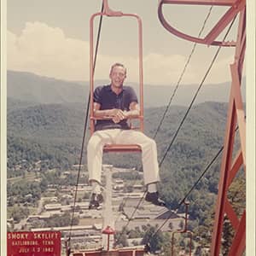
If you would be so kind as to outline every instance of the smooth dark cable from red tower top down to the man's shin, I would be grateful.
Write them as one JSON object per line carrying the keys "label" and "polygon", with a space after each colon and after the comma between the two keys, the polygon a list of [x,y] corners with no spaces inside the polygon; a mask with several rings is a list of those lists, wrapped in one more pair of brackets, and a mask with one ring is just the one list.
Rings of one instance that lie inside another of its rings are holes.
{"label": "smooth dark cable from red tower top down to the man's shin", "polygon": [[[230,29],[231,29],[231,27],[233,26],[235,20],[236,20],[236,17],[232,20],[232,22],[231,22],[231,24],[230,24],[230,26],[229,26],[229,28],[228,28],[228,31],[226,32],[226,34],[225,34],[225,36],[224,36],[223,41],[224,41],[225,38],[228,36],[228,34],[229,34],[229,32],[230,32]],[[182,119],[180,125],[178,126],[177,131],[175,132],[174,136],[172,137],[172,142],[169,144],[168,148],[166,149],[166,152],[165,152],[165,154],[164,154],[162,160],[160,160],[160,166],[163,164],[164,160],[166,159],[166,155],[167,155],[167,153],[169,152],[170,148],[172,147],[172,144],[174,143],[174,141],[175,141],[175,139],[176,139],[176,137],[177,137],[178,132],[180,131],[180,129],[181,129],[181,127],[182,127],[182,125],[183,125],[185,119],[187,118],[187,116],[188,116],[188,114],[189,114],[189,111],[190,111],[190,109],[192,108],[192,105],[193,105],[194,102],[195,102],[196,96],[198,95],[199,91],[201,90],[202,85],[204,84],[205,80],[207,79],[207,75],[210,73],[210,71],[211,71],[211,69],[212,69],[212,66],[213,66],[213,63],[214,63],[214,61],[216,61],[217,56],[218,56],[218,53],[219,53],[221,47],[222,47],[221,45],[218,47],[218,49],[217,49],[215,55],[213,56],[212,62],[211,62],[210,66],[209,66],[208,69],[207,69],[207,73],[204,75],[204,77],[203,77],[203,79],[202,79],[202,81],[201,81],[201,84],[199,85],[198,89],[197,89],[196,92],[195,92],[195,96],[193,97],[192,102],[190,102],[190,104],[189,104],[188,110],[186,111],[186,113],[185,113],[185,115],[184,115],[184,117],[183,117],[183,119]]]}

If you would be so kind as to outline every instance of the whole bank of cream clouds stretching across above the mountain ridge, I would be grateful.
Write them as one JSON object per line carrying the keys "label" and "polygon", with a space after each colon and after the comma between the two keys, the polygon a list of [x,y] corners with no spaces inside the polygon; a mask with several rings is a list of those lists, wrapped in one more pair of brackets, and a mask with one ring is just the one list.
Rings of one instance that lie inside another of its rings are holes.
{"label": "whole bank of cream clouds stretching across above the mountain ridge", "polygon": [[[56,79],[89,80],[89,43],[67,38],[61,28],[50,27],[41,22],[27,22],[20,36],[8,32],[7,66],[11,70],[37,73]],[[137,57],[98,55],[96,79],[108,79],[113,62],[123,62],[128,69],[127,82],[138,81]],[[226,81],[232,59],[216,61],[208,83]],[[183,55],[161,55],[151,53],[143,56],[143,78],[145,84],[176,84],[186,57]],[[195,62],[195,61],[194,61]],[[200,61],[190,63],[182,83],[200,83],[206,65]]]}

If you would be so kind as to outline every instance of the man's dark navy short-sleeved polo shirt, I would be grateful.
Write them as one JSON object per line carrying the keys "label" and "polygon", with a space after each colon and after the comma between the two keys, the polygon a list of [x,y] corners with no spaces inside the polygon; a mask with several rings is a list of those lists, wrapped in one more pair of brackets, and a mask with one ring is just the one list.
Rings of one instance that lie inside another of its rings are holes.
{"label": "man's dark navy short-sleeved polo shirt", "polygon": [[[137,102],[137,95],[131,86],[123,86],[123,90],[116,95],[111,90],[110,84],[102,85],[96,88],[93,94],[93,101],[101,104],[100,110],[119,108],[123,111],[129,111],[131,102]],[[115,124],[113,120],[97,120],[96,131],[105,129],[130,129],[127,120],[121,120]]]}

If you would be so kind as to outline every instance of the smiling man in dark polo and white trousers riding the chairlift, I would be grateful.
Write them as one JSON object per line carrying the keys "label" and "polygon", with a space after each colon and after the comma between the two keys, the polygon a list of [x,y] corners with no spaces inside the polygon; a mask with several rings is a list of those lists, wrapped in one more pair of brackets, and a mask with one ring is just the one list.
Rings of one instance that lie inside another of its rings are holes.
{"label": "smiling man in dark polo and white trousers riding the chairlift", "polygon": [[160,181],[156,144],[143,132],[130,130],[127,124],[127,119],[139,115],[139,109],[135,91],[130,86],[123,85],[126,78],[125,66],[120,63],[113,64],[109,78],[111,84],[99,86],[94,91],[94,115],[108,119],[96,121],[96,131],[87,146],[89,180],[92,185],[89,208],[99,207],[102,202],[102,148],[105,144],[112,143],[141,146],[144,183],[148,187],[145,200],[165,206],[156,189],[156,183]]}

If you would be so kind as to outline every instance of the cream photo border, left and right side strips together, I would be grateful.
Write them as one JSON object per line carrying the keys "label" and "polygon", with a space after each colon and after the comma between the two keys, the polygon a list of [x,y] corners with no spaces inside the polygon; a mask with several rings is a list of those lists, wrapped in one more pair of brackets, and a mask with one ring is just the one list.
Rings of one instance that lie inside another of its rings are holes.
{"label": "cream photo border, left and right side strips together", "polygon": [[[1,154],[0,154],[0,211],[1,211],[1,242],[0,254],[7,255],[6,251],[6,233],[7,233],[7,76],[6,76],[6,58],[7,58],[7,1],[1,0]],[[246,51],[246,84],[247,84],[247,253],[255,255],[255,1],[247,0],[247,51]],[[253,254],[252,254],[253,253]]]}

